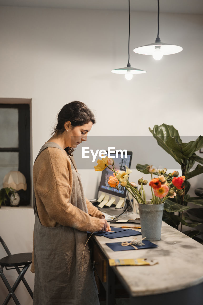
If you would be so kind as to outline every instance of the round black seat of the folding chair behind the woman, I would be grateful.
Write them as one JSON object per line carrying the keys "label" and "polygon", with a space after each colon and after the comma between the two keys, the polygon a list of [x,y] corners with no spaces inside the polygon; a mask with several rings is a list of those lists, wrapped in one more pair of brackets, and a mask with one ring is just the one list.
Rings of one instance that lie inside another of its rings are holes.
{"label": "round black seat of the folding chair behind the woman", "polygon": [[0,266],[2,267],[16,267],[31,264],[32,253],[18,253],[8,255],[0,259]]}

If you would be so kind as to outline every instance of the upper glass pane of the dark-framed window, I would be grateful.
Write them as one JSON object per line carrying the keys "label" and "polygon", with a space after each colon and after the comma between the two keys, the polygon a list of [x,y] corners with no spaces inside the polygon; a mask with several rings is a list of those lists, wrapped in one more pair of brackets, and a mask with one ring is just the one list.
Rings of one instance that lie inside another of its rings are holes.
{"label": "upper glass pane of the dark-framed window", "polygon": [[17,108],[0,108],[0,147],[18,147]]}

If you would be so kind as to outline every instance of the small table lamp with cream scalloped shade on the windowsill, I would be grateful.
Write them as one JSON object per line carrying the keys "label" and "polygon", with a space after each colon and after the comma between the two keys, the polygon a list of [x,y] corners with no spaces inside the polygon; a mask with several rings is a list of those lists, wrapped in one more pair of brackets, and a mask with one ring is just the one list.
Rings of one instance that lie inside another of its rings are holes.
{"label": "small table lamp with cream scalloped shade on the windowsill", "polygon": [[20,196],[16,191],[23,189],[27,190],[27,184],[25,176],[17,170],[11,170],[8,174],[5,175],[3,180],[3,188],[13,188],[15,190],[15,196],[13,194],[10,197],[11,206],[18,206],[20,202]]}

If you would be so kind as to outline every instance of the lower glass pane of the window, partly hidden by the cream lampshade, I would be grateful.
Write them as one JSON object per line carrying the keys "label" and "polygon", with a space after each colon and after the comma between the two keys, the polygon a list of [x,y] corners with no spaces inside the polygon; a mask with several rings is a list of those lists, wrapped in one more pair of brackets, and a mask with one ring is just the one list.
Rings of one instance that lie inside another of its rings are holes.
{"label": "lower glass pane of the window, partly hidden by the cream lampshade", "polygon": [[3,187],[4,176],[10,170],[18,170],[18,152],[0,152],[0,188]]}

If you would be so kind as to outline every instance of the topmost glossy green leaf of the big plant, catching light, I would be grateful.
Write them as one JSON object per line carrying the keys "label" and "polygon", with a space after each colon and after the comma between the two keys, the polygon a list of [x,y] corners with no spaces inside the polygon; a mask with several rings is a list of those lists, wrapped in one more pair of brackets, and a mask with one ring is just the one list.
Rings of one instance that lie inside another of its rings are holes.
{"label": "topmost glossy green leaf of the big plant, catching light", "polygon": [[182,140],[178,134],[178,131],[173,127],[173,125],[162,124],[160,126],[155,125],[153,130],[149,127],[149,131],[152,133],[153,137],[157,140],[159,146],[161,146],[173,159],[180,165],[182,161],[180,157],[176,156],[173,150],[166,144],[169,137],[175,137],[178,143],[182,143]]}

